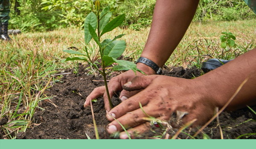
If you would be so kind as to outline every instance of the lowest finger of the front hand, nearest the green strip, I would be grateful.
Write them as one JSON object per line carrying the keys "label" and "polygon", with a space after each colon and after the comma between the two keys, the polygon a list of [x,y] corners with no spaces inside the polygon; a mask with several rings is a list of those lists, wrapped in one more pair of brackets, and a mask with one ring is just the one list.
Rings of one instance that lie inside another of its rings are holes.
{"label": "lowest finger of the front hand, nearest the green strip", "polygon": [[[169,120],[169,117],[157,117],[159,120]],[[137,135],[141,135],[144,132],[150,131],[152,126],[150,125],[151,122],[145,122],[139,126],[136,126],[134,128],[128,129],[127,132],[130,135],[131,138],[135,138]],[[120,133],[120,139],[128,139],[128,135],[125,131]]]}

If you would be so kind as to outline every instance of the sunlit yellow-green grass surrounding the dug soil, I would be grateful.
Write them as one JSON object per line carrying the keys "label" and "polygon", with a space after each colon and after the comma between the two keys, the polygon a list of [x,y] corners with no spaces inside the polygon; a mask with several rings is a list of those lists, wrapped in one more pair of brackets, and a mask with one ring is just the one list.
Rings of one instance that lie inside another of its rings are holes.
{"label": "sunlit yellow-green grass surrounding the dug soil", "polygon": [[[124,55],[135,61],[145,46],[149,30],[115,29],[104,38],[127,34],[122,37],[127,43]],[[221,58],[223,49],[219,37],[225,31],[232,32],[239,45],[236,49],[224,50],[226,59],[233,59],[256,47],[253,40],[256,20],[192,23],[166,65],[200,68],[201,62],[208,58]],[[82,30],[70,27],[20,34],[12,37],[10,43],[0,41],[0,118],[7,116],[9,119],[3,126],[5,138],[14,139],[18,132],[40,124],[32,116],[35,110],[41,109],[42,102],[52,103],[45,91],[61,77],[52,74],[77,66],[73,62],[61,63],[63,58],[70,56],[62,50],[74,46],[84,53],[83,37]],[[96,43],[91,41],[89,48],[91,57],[98,57]],[[94,70],[91,73],[95,74]]]}

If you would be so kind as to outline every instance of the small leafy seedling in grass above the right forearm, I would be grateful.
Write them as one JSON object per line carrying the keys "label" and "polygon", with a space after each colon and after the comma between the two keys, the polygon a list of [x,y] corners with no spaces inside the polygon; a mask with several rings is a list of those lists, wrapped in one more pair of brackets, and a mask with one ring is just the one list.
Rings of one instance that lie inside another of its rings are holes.
{"label": "small leafy seedling in grass above the right forearm", "polygon": [[235,40],[236,40],[236,37],[232,34],[232,33],[227,33],[227,32],[222,32],[221,34],[224,34],[224,35],[221,35],[220,37],[220,40],[221,40],[221,48],[222,49],[222,54],[221,54],[221,59],[223,59],[223,54],[224,54],[224,49],[227,48],[227,55],[225,57],[225,59],[227,59],[227,56],[229,54],[229,52],[231,51],[231,48],[236,48],[236,43],[235,43]]}

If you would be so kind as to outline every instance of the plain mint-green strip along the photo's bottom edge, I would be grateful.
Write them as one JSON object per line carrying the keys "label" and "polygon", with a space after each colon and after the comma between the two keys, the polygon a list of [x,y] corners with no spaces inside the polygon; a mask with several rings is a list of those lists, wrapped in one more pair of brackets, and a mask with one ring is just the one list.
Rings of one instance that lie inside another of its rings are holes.
{"label": "plain mint-green strip along the photo's bottom edge", "polygon": [[0,149],[244,149],[255,144],[256,140],[0,140]]}

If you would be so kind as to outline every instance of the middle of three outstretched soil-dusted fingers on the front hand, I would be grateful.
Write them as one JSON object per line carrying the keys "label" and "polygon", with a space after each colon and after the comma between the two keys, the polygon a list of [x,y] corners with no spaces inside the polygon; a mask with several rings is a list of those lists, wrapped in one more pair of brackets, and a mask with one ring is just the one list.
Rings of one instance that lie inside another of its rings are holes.
{"label": "middle of three outstretched soil-dusted fingers on the front hand", "polygon": [[[159,113],[154,112],[152,110],[152,107],[149,106],[144,106],[143,110],[145,111],[146,114],[152,116],[152,117],[159,117],[161,116]],[[131,113],[128,113],[120,118],[117,119],[117,121],[119,123],[122,124],[122,126],[130,126],[130,127],[135,127],[135,126],[139,126],[140,124],[144,123],[145,120],[143,119],[143,117],[147,117],[145,115],[145,113],[142,111],[142,109],[137,109]],[[122,126],[117,122],[116,120],[114,120],[113,122],[111,122],[108,127],[108,133],[113,133],[116,131],[122,131]]]}

